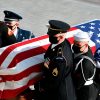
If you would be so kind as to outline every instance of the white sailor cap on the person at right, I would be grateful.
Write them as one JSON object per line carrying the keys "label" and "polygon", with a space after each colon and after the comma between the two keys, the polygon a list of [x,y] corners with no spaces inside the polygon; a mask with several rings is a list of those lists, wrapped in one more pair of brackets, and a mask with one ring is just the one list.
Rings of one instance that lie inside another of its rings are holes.
{"label": "white sailor cap on the person at right", "polygon": [[87,32],[80,31],[74,34],[74,40],[76,41],[89,41],[90,37]]}

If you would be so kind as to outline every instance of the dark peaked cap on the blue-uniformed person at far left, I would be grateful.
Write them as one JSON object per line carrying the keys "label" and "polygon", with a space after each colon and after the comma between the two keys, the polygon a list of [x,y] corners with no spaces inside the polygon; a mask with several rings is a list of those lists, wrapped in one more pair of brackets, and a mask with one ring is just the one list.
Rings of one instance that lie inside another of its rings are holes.
{"label": "dark peaked cap on the blue-uniformed person at far left", "polygon": [[22,17],[12,11],[5,10],[4,11],[5,17],[4,21],[15,21],[15,20],[21,20]]}

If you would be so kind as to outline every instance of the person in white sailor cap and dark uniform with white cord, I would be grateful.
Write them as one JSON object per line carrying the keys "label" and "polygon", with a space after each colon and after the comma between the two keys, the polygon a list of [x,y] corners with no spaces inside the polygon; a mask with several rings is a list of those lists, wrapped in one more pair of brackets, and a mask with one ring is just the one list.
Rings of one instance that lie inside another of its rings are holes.
{"label": "person in white sailor cap and dark uniform with white cord", "polygon": [[88,33],[80,31],[74,35],[74,83],[77,100],[96,100],[98,90],[94,84],[96,64],[88,45]]}

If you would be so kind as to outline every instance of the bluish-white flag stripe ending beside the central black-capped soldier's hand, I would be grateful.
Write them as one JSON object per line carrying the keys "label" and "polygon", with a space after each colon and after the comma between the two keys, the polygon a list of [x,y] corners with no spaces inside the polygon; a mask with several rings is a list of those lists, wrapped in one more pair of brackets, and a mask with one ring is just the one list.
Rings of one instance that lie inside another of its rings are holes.
{"label": "bluish-white flag stripe ending beside the central black-capped soldier's hand", "polygon": [[17,65],[14,66],[13,68],[0,69],[0,75],[18,74],[18,73],[23,72],[24,70],[28,69],[31,66],[42,63],[43,61],[44,61],[44,53],[40,54],[40,55],[36,55],[34,57],[27,58],[27,59],[17,63]]}

